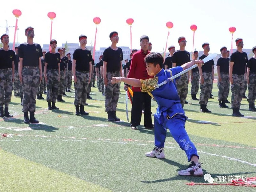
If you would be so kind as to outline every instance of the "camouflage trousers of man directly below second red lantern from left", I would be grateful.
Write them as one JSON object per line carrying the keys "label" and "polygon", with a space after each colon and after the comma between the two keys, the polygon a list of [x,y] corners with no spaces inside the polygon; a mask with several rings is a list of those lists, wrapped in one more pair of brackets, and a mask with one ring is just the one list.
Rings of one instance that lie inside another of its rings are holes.
{"label": "camouflage trousers of man directly below second red lantern from left", "polygon": [[[47,76],[47,102],[54,102],[56,103],[57,96],[58,96],[58,89],[59,89],[59,72],[58,69],[47,69],[46,71]],[[63,92],[62,92],[63,93]]]}

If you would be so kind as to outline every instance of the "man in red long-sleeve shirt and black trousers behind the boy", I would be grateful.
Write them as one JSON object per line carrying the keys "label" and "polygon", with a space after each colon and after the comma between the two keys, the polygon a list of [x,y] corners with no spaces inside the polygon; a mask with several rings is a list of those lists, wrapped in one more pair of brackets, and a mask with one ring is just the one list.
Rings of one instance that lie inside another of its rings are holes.
{"label": "man in red long-sleeve shirt and black trousers behind the boy", "polygon": [[[153,76],[149,76],[147,73],[146,63],[144,58],[150,52],[148,51],[149,38],[148,36],[140,37],[140,46],[141,49],[133,54],[130,71],[128,73],[128,78],[135,79],[149,79]],[[127,85],[124,86],[124,89],[128,88]],[[131,128],[137,129],[136,126],[140,125],[141,116],[142,116],[142,105],[144,103],[144,126],[146,129],[153,129],[151,118],[151,96],[148,93],[141,92],[140,87],[134,87],[133,90],[133,104],[132,104],[132,113],[131,113]]]}

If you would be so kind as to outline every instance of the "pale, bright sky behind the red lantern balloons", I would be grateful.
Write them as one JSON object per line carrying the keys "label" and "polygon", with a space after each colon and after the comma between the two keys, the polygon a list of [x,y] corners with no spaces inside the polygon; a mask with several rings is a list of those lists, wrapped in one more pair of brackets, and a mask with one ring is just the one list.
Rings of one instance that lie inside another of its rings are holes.
{"label": "pale, bright sky behind the red lantern balloons", "polygon": [[[117,31],[119,43],[117,46],[130,47],[130,26],[126,19],[133,18],[132,49],[140,48],[140,37],[147,35],[152,43],[152,52],[162,52],[165,49],[168,28],[166,22],[173,23],[168,38],[167,47],[174,45],[179,49],[178,38],[186,37],[186,50],[192,51],[193,32],[192,24],[197,25],[195,32],[194,49],[200,51],[202,44],[210,44],[210,53],[220,53],[220,48],[226,46],[231,49],[231,33],[229,27],[236,27],[233,36],[233,48],[236,48],[235,39],[240,37],[244,41],[244,48],[252,49],[256,45],[256,25],[254,15],[255,0],[72,0],[72,1],[27,1],[12,0],[1,6],[0,34],[6,30],[6,21],[9,26],[15,26],[16,18],[13,9],[20,9],[22,15],[18,18],[18,42],[26,41],[25,28],[32,26],[35,32],[34,42],[49,44],[51,20],[48,12],[55,12],[56,18],[52,25],[52,38],[61,43],[79,43],[81,34],[87,36],[87,46],[93,46],[96,25],[94,17],[100,17],[97,25],[96,50],[108,47],[111,44],[109,34]],[[14,27],[9,28],[9,39],[13,42]],[[17,42],[17,37],[16,37]]]}

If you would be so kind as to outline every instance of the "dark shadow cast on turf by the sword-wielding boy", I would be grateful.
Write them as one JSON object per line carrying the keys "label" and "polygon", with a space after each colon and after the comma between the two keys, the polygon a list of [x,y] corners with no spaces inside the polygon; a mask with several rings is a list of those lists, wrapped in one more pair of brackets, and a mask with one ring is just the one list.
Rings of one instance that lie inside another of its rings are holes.
{"label": "dark shadow cast on turf by the sword-wielding boy", "polygon": [[[176,171],[181,171],[181,170],[185,170],[188,168],[187,165],[183,165],[180,164],[176,161],[172,161],[170,159],[160,159],[161,161],[164,161],[170,165],[179,167]],[[203,169],[204,174],[207,173],[206,170]],[[221,175],[225,175],[225,176],[234,176],[234,175],[247,175],[247,174],[251,174],[251,173],[256,173],[255,172],[238,172],[238,173],[222,173]],[[216,173],[210,173],[211,176],[215,179],[217,178],[217,176],[220,176],[220,174],[216,174]],[[206,183],[204,181],[204,177],[195,177],[195,176],[181,176],[181,175],[175,175],[174,177],[171,178],[165,178],[165,179],[159,179],[159,180],[153,180],[153,181],[141,181],[142,183],[160,183],[160,182],[166,182],[166,181],[175,181],[175,180],[187,180],[188,182],[194,182],[194,183]]]}

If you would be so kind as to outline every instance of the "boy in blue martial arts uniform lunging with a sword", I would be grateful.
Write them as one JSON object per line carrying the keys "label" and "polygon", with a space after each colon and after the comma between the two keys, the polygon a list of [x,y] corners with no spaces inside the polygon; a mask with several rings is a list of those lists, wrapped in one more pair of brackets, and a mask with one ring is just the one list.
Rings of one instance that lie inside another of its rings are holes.
{"label": "boy in blue martial arts uniform lunging with a sword", "polygon": [[[155,148],[153,151],[146,153],[147,157],[164,158],[164,142],[166,138],[166,129],[170,130],[173,138],[185,151],[188,162],[191,161],[189,167],[179,171],[179,175],[202,176],[203,170],[199,163],[199,156],[196,147],[190,141],[185,130],[186,116],[181,106],[180,98],[176,89],[175,79],[168,79],[180,72],[186,72],[196,66],[201,66],[202,60],[195,60],[185,63],[181,66],[162,69],[164,59],[160,53],[149,53],[145,57],[148,75],[154,75],[154,78],[139,80],[124,77],[113,77],[112,84],[123,81],[134,87],[140,87],[142,92],[148,92],[154,97],[158,104],[156,114],[154,115],[155,124]],[[193,66],[197,64],[196,66]],[[193,67],[192,67],[193,66]],[[192,67],[192,68],[191,68]],[[181,74],[180,74],[181,75]],[[170,80],[170,81],[169,81]],[[167,83],[168,82],[168,83]],[[161,84],[160,84],[161,83]]]}

